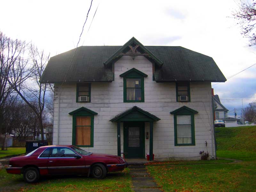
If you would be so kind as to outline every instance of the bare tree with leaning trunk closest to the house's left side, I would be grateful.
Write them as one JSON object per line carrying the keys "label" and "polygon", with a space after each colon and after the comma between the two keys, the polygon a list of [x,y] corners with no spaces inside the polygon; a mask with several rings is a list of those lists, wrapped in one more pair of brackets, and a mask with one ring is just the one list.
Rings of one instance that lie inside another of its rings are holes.
{"label": "bare tree with leaning trunk closest to the house's left side", "polygon": [[[41,84],[39,80],[48,63],[50,54],[45,54],[44,50],[38,50],[36,46],[30,44],[29,55],[30,66],[23,66],[22,63],[17,63],[16,68],[12,70],[12,78],[8,82],[36,113],[41,139],[44,140],[43,111],[45,107],[45,94],[49,89],[49,84]],[[17,76],[17,74],[20,75]]]}

